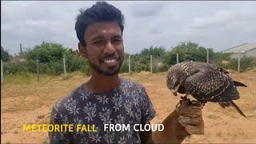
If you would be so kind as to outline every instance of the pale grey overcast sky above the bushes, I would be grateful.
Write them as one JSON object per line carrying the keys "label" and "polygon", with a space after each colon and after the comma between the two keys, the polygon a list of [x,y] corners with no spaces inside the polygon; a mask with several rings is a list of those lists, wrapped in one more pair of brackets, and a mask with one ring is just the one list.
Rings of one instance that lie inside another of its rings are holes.
{"label": "pale grey overcast sky above the bushes", "polygon": [[[1,1],[1,46],[18,54],[19,44],[33,47],[58,42],[77,49],[74,30],[78,9],[93,2]],[[256,2],[110,2],[126,17],[125,51],[140,52],[149,46],[170,50],[180,42],[226,50],[256,43]]]}

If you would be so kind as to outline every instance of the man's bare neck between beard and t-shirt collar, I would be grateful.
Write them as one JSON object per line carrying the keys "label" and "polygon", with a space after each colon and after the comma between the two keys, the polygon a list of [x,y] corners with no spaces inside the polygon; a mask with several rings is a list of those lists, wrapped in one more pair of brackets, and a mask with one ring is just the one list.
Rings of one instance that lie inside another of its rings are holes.
{"label": "man's bare neck between beard and t-shirt collar", "polygon": [[90,80],[86,82],[86,90],[95,93],[104,93],[114,90],[120,84],[118,74],[105,76],[102,74],[92,74]]}

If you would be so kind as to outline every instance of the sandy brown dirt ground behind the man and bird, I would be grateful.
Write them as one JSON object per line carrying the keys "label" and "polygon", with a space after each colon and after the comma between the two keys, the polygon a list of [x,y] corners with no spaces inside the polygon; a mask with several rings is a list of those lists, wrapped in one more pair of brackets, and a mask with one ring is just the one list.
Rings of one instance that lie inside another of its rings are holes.
{"label": "sandy brown dirt ground behind the man and bird", "polygon": [[[174,97],[167,89],[165,73],[142,72],[121,76],[146,87],[157,111],[151,123],[162,122],[180,100],[179,96]],[[241,98],[235,103],[249,119],[243,118],[232,107],[222,109],[217,103],[208,102],[202,109],[205,134],[192,135],[183,143],[256,143],[256,72],[231,72],[230,76],[248,86],[238,88]],[[7,83],[2,86],[1,143],[46,143],[46,132],[23,132],[23,124],[48,124],[54,102],[88,79],[82,74],[76,74],[67,80],[55,77],[48,82]]]}

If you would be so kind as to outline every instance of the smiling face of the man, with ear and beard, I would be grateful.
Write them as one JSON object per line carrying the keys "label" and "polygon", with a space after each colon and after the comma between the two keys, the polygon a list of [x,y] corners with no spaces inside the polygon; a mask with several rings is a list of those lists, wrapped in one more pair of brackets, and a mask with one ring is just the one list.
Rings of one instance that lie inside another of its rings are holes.
{"label": "smiling face of the man, with ear and beard", "polygon": [[95,22],[85,33],[86,46],[79,44],[82,57],[88,58],[93,71],[111,76],[118,74],[124,59],[122,31],[117,22]]}

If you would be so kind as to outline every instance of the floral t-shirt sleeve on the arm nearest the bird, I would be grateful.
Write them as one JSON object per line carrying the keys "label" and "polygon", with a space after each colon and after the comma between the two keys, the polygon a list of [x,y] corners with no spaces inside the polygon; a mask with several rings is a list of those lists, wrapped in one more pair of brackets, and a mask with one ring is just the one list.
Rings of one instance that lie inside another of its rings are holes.
{"label": "floral t-shirt sleeve on the arm nearest the bird", "polygon": [[154,106],[152,105],[152,102],[150,101],[149,95],[146,93],[146,89],[144,86],[142,86],[141,91],[141,98],[142,98],[142,124],[146,124],[150,122],[156,115],[156,112],[154,110]]}

